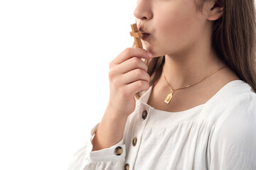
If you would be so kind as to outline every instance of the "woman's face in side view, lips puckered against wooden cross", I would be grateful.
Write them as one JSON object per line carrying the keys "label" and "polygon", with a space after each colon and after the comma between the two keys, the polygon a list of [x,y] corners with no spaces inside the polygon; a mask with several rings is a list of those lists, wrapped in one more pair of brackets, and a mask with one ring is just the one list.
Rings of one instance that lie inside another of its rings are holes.
{"label": "woman's face in side view, lips puckered against wooden cross", "polygon": [[154,57],[184,54],[206,31],[210,34],[206,16],[196,12],[193,0],[137,0],[134,16],[138,28],[149,33],[142,45]]}

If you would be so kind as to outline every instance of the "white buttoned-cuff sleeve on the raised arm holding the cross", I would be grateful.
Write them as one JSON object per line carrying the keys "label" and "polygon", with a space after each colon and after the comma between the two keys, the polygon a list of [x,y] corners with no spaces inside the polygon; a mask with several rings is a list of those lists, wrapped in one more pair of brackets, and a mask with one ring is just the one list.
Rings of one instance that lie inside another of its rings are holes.
{"label": "white buttoned-cuff sleeve on the raised arm holding the cross", "polygon": [[110,148],[92,152],[92,139],[95,137],[99,124],[97,123],[95,128],[92,128],[90,139],[73,155],[68,170],[124,169],[125,145],[123,138]]}

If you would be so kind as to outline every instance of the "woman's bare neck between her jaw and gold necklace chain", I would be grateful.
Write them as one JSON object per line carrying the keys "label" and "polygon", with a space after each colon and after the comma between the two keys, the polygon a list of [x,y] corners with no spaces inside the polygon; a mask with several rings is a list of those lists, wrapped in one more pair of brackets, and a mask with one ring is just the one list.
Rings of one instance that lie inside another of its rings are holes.
{"label": "woman's bare neck between her jaw and gold necklace chain", "polygon": [[224,67],[213,50],[195,50],[179,55],[165,55],[164,73],[173,89],[196,83],[211,72]]}

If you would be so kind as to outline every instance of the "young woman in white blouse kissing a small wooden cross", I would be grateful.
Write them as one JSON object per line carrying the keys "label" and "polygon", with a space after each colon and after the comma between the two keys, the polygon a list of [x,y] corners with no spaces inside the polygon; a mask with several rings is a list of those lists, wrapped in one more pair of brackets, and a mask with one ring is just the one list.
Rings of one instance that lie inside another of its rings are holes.
{"label": "young woman in white blouse kissing a small wooden cross", "polygon": [[256,169],[254,1],[137,0],[134,16],[144,49],[110,63],[69,169]]}

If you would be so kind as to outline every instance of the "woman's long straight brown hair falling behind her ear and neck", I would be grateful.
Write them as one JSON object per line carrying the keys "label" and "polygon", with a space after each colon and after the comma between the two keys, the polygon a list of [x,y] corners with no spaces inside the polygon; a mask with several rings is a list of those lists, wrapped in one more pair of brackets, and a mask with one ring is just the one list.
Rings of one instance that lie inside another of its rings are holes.
{"label": "woman's long straight brown hair falling behind her ear and neck", "polygon": [[[209,0],[194,0],[196,10]],[[214,21],[211,41],[220,60],[256,92],[256,21],[254,0],[218,0],[223,16]],[[150,85],[160,78],[164,56],[146,60]],[[139,93],[136,95],[139,97]]]}

